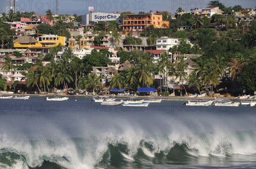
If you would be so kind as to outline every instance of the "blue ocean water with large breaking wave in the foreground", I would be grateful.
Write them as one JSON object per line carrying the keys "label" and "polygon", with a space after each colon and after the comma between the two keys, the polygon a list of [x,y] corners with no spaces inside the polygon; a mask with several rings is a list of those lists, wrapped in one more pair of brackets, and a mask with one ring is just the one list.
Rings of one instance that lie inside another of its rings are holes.
{"label": "blue ocean water with large breaking wave in the foreground", "polygon": [[255,107],[0,100],[0,168],[256,168]]}

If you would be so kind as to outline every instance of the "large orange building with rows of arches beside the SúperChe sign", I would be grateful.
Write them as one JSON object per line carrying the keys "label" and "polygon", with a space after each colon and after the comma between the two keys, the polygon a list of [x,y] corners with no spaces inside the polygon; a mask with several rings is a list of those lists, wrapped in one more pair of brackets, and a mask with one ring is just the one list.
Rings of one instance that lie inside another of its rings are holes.
{"label": "large orange building with rows of arches beside the S\u00faperChe sign", "polygon": [[169,28],[169,21],[163,21],[161,14],[153,13],[128,14],[123,17],[123,30],[143,31],[149,25],[154,25],[154,28]]}

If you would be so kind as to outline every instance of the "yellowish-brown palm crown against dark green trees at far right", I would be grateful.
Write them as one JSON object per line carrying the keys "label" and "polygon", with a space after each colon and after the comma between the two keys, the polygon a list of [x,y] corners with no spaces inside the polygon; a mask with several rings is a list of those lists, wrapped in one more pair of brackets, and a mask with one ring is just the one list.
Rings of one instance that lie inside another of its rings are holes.
{"label": "yellowish-brown palm crown against dark green trees at far right", "polygon": [[238,75],[243,71],[243,66],[247,65],[247,62],[238,61],[237,59],[232,58],[231,62],[228,63],[230,68],[230,76],[233,80],[236,80],[238,78]]}

